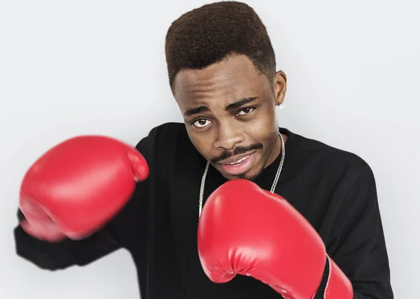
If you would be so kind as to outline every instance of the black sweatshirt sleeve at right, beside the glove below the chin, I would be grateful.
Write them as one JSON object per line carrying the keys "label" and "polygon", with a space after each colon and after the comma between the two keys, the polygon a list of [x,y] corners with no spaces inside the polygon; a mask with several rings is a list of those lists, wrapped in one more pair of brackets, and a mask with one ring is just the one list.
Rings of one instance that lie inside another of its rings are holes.
{"label": "black sweatshirt sleeve at right, beside the glove below the chin", "polygon": [[353,178],[332,221],[328,254],[351,280],[355,299],[392,299],[390,269],[369,166]]}

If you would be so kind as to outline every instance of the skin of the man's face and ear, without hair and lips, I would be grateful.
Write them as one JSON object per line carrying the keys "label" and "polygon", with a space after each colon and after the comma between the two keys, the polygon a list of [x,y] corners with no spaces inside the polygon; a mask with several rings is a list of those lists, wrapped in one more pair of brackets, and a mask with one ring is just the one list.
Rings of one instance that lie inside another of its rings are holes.
{"label": "skin of the man's face and ear, without hair and lips", "polygon": [[[237,54],[201,70],[182,70],[174,81],[191,142],[228,180],[255,180],[279,156],[276,105],[285,94],[282,71],[270,82],[248,57]],[[230,175],[221,165],[252,152],[255,159],[245,173]]]}

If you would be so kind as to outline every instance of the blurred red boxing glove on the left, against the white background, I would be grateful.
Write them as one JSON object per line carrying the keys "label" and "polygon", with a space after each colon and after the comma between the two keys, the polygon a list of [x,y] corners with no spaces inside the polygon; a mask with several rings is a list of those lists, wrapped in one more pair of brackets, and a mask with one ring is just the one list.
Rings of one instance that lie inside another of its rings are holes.
{"label": "blurred red boxing glove on the left, against the white background", "polygon": [[22,228],[57,242],[85,238],[130,200],[148,165],[135,149],[104,136],[78,136],[45,152],[27,171],[20,189]]}

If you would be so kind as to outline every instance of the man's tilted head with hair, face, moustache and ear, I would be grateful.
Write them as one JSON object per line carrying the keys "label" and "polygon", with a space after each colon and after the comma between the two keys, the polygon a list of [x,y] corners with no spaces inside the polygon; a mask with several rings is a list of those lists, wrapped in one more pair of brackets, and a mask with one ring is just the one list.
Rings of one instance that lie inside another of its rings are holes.
{"label": "man's tilted head with hair, face, moustache and ear", "polygon": [[286,92],[258,15],[239,2],[202,6],[172,24],[165,50],[193,145],[228,180],[254,180],[279,154],[275,107]]}

